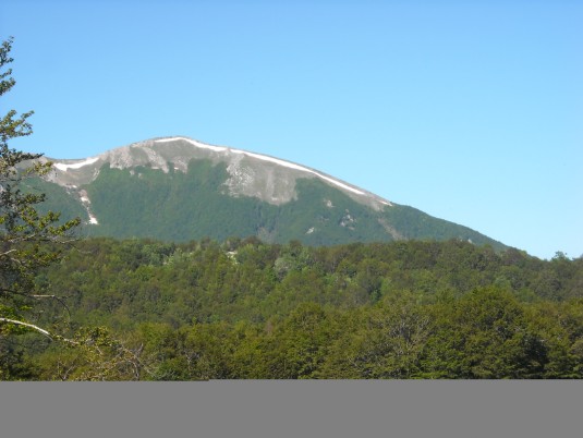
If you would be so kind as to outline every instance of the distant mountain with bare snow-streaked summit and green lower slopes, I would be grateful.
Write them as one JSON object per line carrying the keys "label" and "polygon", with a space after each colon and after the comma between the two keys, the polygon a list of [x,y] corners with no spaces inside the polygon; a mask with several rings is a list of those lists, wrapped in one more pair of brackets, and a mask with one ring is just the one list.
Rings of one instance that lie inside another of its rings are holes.
{"label": "distant mountain with bare snow-streaked summit and green lower slopes", "polygon": [[35,186],[46,208],[88,235],[178,242],[255,235],[308,245],[460,239],[503,244],[294,162],[186,137],[154,138],[85,159],[50,159]]}

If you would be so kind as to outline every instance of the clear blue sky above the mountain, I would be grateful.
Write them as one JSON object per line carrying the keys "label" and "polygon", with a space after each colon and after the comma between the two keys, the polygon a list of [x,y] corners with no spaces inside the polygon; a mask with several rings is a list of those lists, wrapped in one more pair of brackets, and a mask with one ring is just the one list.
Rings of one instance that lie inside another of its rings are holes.
{"label": "clear blue sky above the mountain", "polygon": [[2,0],[11,146],[168,135],[296,161],[530,254],[583,255],[581,1]]}

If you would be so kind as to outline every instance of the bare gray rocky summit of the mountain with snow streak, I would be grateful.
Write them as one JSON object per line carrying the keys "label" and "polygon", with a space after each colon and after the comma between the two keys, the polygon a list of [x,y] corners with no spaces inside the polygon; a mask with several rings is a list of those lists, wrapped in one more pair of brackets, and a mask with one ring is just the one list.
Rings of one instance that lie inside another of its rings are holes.
{"label": "bare gray rocky summit of the mountain with snow streak", "polygon": [[375,210],[391,205],[373,193],[294,162],[186,137],[148,139],[80,160],[52,159],[56,172],[50,180],[62,186],[88,184],[97,178],[105,163],[113,169],[147,166],[169,172],[172,167],[174,171],[186,172],[193,159],[226,163],[230,178],[224,188],[235,197],[252,196],[272,205],[282,205],[296,198],[297,179],[318,178]]}

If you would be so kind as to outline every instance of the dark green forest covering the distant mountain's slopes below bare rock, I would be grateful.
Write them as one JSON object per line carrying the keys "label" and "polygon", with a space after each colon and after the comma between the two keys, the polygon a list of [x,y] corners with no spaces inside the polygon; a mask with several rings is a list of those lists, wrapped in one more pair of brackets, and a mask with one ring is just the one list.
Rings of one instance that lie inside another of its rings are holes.
{"label": "dark green forest covering the distant mountain's slopes below bare rock", "polygon": [[[169,169],[172,166],[169,162]],[[191,159],[185,173],[173,169],[165,173],[144,166],[117,169],[105,163],[94,181],[80,186],[90,198],[98,224],[87,224],[87,209],[78,195],[72,195],[71,187],[38,178],[28,181],[27,188],[47,194],[39,211],[60,211],[63,218],[80,217],[86,223],[85,235],[92,238],[184,243],[205,238],[222,242],[231,236],[255,235],[266,243],[299,240],[312,246],[462,239],[495,250],[506,247],[467,227],[434,218],[410,206],[391,204],[390,208],[371,208],[318,179],[299,178],[294,182],[297,197],[281,205],[253,196],[232,196],[226,190],[228,180],[227,165],[210,159]]]}

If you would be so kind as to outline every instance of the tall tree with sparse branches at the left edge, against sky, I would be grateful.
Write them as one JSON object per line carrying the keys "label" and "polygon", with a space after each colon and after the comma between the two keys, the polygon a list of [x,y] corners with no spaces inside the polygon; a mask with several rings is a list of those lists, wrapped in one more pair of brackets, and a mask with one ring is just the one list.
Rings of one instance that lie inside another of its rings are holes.
{"label": "tall tree with sparse branches at the left edge, against sky", "polygon": [[[7,69],[13,61],[12,41],[9,38],[0,47],[0,97],[15,84],[12,70]],[[50,172],[52,163],[41,159],[42,154],[23,153],[8,145],[13,138],[33,133],[28,122],[32,114],[28,111],[19,115],[10,110],[0,119],[0,342],[10,333],[27,330],[57,338],[34,320],[39,300],[59,300],[39,293],[35,275],[61,257],[63,244],[71,241],[80,223],[78,218],[63,222],[57,212],[37,211],[46,196],[27,183]]]}

